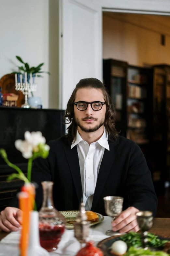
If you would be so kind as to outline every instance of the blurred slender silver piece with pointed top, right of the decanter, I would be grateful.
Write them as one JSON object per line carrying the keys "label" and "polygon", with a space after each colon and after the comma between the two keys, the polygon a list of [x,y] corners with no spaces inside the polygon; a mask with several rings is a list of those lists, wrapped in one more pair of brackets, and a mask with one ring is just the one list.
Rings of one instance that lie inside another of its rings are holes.
{"label": "blurred slender silver piece with pointed top, right of the decanter", "polygon": [[89,237],[89,223],[87,221],[87,215],[83,202],[80,203],[80,210],[74,222],[74,236],[83,244]]}

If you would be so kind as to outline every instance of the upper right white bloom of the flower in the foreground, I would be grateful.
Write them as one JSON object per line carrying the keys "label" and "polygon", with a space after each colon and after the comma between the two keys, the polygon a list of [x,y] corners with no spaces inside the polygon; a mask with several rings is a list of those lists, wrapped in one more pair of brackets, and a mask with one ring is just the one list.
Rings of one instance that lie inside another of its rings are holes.
{"label": "upper right white bloom of the flower in the foreground", "polygon": [[29,132],[26,131],[24,134],[25,141],[32,145],[32,147],[37,146],[38,144],[45,144],[46,139],[42,136],[40,131]]}

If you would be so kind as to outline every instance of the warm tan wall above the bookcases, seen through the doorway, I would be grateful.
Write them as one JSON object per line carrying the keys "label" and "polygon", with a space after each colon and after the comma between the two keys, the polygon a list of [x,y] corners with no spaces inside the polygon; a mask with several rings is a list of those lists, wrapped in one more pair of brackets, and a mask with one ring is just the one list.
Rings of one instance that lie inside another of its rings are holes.
{"label": "warm tan wall above the bookcases, seen through the doorway", "polygon": [[[159,33],[139,26],[169,34],[166,45],[161,45]],[[170,17],[104,13],[103,58],[124,60],[138,66],[170,64]]]}

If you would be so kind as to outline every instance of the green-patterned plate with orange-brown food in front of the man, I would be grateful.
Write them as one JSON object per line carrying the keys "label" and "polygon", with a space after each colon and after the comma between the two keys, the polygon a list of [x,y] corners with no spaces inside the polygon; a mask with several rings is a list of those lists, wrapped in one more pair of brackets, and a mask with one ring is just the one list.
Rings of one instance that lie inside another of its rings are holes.
{"label": "green-patterned plate with orange-brown food in front of the man", "polygon": [[[60,211],[66,219],[66,229],[74,229],[74,221],[79,211]],[[104,217],[100,213],[94,213],[92,211],[86,211],[87,221],[90,222],[90,226],[98,224],[104,220]]]}

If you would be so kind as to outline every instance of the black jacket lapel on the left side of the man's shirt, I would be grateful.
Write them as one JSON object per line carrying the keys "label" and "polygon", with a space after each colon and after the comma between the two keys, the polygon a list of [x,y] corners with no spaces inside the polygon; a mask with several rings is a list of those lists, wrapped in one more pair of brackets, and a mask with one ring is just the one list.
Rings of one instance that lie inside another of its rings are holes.
{"label": "black jacket lapel on the left side of the man's shirt", "polygon": [[83,197],[83,193],[82,193],[82,186],[81,186],[81,175],[80,175],[77,146],[74,146],[72,149],[70,145],[65,146],[64,151],[70,167],[71,175],[73,177],[73,182],[74,182],[74,186],[78,196],[78,201],[80,203],[81,198]]}

